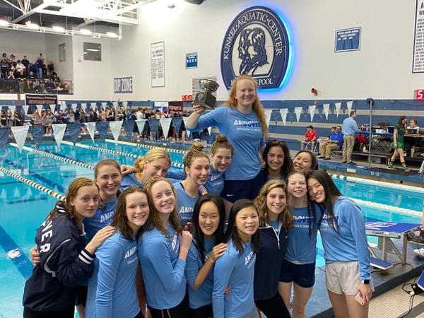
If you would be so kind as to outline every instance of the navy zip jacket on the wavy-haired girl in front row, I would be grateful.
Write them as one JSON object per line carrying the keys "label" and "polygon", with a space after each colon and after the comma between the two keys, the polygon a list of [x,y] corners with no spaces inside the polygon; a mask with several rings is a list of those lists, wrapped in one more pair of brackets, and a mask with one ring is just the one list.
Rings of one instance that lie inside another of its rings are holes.
{"label": "navy zip jacket on the wavy-haired girl in front row", "polygon": [[254,300],[268,300],[278,292],[281,266],[287,249],[288,231],[281,227],[280,235],[271,225],[259,228],[259,251],[254,266]]}

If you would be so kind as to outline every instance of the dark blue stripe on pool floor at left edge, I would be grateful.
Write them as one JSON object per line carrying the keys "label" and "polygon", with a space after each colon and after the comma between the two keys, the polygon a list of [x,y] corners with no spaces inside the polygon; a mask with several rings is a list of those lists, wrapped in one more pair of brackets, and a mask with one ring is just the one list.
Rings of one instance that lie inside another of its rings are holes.
{"label": "dark blue stripe on pool floor at left edge", "polygon": [[19,273],[27,280],[31,276],[31,273],[33,273],[33,263],[31,263],[30,259],[28,259],[22,249],[18,247],[16,242],[8,235],[1,225],[0,245],[3,247],[6,255],[8,255],[8,259],[13,262]]}

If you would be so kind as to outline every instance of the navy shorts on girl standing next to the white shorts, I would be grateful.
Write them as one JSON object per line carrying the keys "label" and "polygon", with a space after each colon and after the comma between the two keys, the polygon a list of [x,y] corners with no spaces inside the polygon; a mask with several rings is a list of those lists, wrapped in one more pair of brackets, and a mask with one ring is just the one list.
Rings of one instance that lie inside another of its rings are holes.
{"label": "navy shorts on girl standing next to the white shorts", "polygon": [[303,288],[310,288],[315,283],[315,263],[294,264],[286,259],[281,266],[280,281],[295,282]]}

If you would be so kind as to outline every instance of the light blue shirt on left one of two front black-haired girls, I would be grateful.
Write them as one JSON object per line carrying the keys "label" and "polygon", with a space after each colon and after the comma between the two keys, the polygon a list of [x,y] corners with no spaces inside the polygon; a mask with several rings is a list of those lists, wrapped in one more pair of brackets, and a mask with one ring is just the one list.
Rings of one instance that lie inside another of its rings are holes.
{"label": "light blue shirt on left one of two front black-haired girls", "polygon": [[[204,238],[205,258],[208,259],[209,254],[215,244],[215,237]],[[206,261],[206,260],[205,260]],[[199,274],[200,269],[204,266],[201,260],[199,249],[197,249],[195,242],[190,246],[189,254],[187,255],[187,264],[185,269],[185,276],[187,278],[187,290],[189,292],[190,308],[196,309],[212,303],[212,287],[213,287],[213,269],[206,276],[201,286],[194,290],[194,281]]]}

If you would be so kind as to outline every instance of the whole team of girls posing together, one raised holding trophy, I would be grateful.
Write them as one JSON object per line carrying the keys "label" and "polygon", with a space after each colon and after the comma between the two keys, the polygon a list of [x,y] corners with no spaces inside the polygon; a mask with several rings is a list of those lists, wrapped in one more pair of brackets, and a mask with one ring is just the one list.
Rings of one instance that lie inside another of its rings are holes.
{"label": "whole team of girls posing together, one raised holding trophy", "polygon": [[194,105],[187,128],[223,135],[211,153],[193,145],[184,170],[155,148],[134,167],[104,159],[94,180],[71,182],[37,230],[24,317],[73,317],[75,306],[98,318],[305,317],[318,230],[336,317],[367,317],[360,208],[313,153],[292,160],[283,141],[265,142],[252,78],[236,78],[225,105]]}

